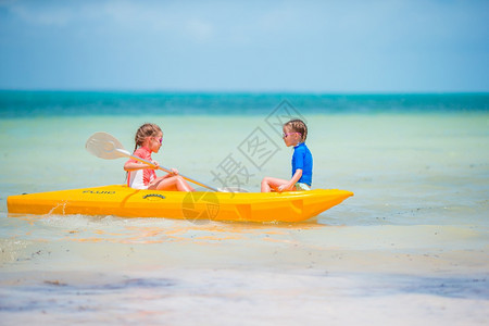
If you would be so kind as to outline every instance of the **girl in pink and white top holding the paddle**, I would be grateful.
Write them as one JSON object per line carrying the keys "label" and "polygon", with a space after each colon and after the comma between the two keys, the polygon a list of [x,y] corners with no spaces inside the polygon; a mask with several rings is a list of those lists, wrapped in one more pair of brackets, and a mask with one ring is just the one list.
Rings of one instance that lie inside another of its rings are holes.
{"label": "girl in pink and white top holding the paddle", "polygon": [[124,164],[124,170],[128,172],[127,186],[135,189],[193,191],[193,188],[178,175],[175,168],[165,176],[156,177],[154,170],[158,168],[159,163],[151,159],[151,153],[158,153],[163,142],[163,131],[158,125],[140,126],[136,131],[135,142],[134,155],[150,161],[153,165],[133,159],[127,161]]}

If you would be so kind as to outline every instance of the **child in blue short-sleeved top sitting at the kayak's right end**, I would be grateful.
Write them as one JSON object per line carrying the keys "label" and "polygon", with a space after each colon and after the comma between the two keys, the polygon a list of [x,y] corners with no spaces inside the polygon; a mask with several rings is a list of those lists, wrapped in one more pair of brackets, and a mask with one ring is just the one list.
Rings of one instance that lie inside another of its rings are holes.
{"label": "child in blue short-sleeved top sitting at the kayak's right end", "polygon": [[312,154],[304,141],[308,138],[308,126],[301,120],[291,120],[286,123],[284,142],[287,147],[293,146],[292,178],[290,180],[264,177],[262,192],[311,190],[312,184]]}

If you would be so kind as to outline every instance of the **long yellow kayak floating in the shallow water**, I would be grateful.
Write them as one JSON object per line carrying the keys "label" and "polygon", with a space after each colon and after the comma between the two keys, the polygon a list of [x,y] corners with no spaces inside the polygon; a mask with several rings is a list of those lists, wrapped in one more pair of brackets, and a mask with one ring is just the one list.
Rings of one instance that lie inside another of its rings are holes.
{"label": "long yellow kayak floating in the shallow water", "polygon": [[9,213],[83,214],[238,222],[301,222],[341,203],[337,189],[287,192],[179,192],[104,186],[10,196]]}

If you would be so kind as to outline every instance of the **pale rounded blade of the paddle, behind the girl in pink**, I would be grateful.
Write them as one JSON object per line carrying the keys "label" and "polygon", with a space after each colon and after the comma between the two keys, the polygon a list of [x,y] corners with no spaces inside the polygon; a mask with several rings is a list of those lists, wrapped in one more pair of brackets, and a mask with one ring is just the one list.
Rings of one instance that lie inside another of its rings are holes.
{"label": "pale rounded blade of the paddle, behind the girl in pink", "polygon": [[130,156],[130,153],[124,149],[122,143],[106,133],[95,133],[91,135],[87,143],[85,143],[85,148],[93,155],[105,160]]}

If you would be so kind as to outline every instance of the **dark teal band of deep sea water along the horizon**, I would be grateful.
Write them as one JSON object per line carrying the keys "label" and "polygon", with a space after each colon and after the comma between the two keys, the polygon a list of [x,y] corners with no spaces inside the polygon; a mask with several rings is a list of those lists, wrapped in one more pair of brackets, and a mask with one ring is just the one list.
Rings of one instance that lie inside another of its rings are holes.
{"label": "dark teal band of deep sea water along the horizon", "polygon": [[489,92],[301,93],[0,90],[0,118],[79,115],[261,115],[283,101],[305,114],[489,111]]}

